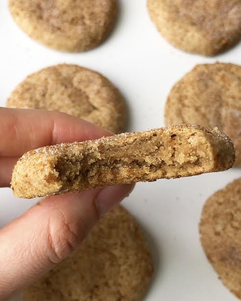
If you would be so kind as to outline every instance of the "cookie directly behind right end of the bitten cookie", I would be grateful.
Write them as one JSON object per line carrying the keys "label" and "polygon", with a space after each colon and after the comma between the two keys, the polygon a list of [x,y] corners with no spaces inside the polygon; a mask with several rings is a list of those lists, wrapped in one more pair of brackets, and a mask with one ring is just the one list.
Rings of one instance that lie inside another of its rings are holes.
{"label": "cookie directly behind right end of the bitten cookie", "polygon": [[165,105],[165,125],[217,126],[234,142],[241,166],[241,66],[197,65],[172,88]]}

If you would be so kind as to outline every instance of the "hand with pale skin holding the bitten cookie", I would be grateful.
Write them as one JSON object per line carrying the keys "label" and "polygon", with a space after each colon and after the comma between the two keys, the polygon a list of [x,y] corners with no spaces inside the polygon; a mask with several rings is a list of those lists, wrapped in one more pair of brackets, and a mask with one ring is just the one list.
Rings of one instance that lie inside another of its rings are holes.
{"label": "hand with pale skin holding the bitten cookie", "polygon": [[[0,108],[0,187],[10,186],[13,166],[26,151],[109,135],[59,112]],[[133,188],[123,184],[51,196],[0,229],[0,300],[8,300],[66,258]]]}

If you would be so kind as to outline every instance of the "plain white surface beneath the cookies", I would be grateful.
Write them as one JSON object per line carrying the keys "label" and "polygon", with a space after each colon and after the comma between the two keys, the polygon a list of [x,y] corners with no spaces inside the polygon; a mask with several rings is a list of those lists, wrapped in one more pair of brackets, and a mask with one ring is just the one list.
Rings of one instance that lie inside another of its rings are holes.
{"label": "plain white surface beneath the cookies", "polygon": [[[163,126],[163,106],[172,85],[196,63],[241,64],[241,44],[215,58],[190,55],[169,45],[149,20],[146,0],[120,0],[121,12],[111,37],[83,54],[46,48],[13,22],[7,1],[0,1],[0,105],[28,74],[57,63],[76,63],[106,75],[125,95],[129,130]],[[234,301],[206,260],[198,236],[205,200],[241,169],[179,180],[137,184],[124,205],[150,236],[155,278],[146,301]],[[0,226],[26,211],[34,201],[18,200],[0,189]],[[15,301],[20,300],[18,298]]]}

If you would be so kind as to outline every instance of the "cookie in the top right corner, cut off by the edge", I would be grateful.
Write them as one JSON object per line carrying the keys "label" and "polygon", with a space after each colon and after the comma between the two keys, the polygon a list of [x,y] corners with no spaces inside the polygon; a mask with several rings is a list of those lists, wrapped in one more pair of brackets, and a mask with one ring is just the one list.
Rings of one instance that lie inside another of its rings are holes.
{"label": "cookie in the top right corner, cut off by the edge", "polygon": [[151,19],[173,46],[205,56],[241,39],[240,0],[148,0]]}

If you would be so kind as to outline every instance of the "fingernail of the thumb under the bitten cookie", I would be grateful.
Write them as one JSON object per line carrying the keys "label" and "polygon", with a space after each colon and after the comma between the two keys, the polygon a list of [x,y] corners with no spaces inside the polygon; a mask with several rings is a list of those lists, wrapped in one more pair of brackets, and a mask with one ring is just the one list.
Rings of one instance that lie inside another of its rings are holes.
{"label": "fingernail of the thumb under the bitten cookie", "polygon": [[100,216],[117,206],[133,189],[134,184],[121,184],[103,188],[95,200]]}

